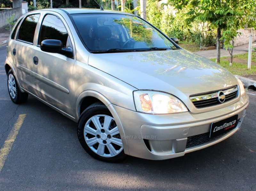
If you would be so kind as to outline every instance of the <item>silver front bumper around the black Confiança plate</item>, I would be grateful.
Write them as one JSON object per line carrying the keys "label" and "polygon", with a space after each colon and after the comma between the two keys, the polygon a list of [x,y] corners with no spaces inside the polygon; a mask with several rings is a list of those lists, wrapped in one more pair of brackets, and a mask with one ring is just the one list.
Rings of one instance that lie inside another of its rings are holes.
{"label": "silver front bumper around the black Confian\u00e7a plate", "polygon": [[[127,143],[124,152],[134,157],[164,160],[209,147],[236,133],[241,127],[248,104],[248,96],[244,94],[232,105],[198,114],[184,112],[152,115],[130,111],[116,105],[113,107],[124,130],[123,144]],[[198,135],[207,137],[213,122],[236,114],[239,120],[235,129],[214,139],[191,144],[191,140]]]}

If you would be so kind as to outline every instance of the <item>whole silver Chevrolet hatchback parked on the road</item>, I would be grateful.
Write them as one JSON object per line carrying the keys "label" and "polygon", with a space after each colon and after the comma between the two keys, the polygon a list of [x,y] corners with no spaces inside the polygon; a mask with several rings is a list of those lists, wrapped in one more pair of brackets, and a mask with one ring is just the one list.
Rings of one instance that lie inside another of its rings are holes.
{"label": "whole silver Chevrolet hatchback parked on the road", "polygon": [[109,162],[211,146],[240,129],[249,104],[227,70],[118,11],[23,15],[9,37],[5,71],[14,103],[29,94],[77,122],[83,148]]}

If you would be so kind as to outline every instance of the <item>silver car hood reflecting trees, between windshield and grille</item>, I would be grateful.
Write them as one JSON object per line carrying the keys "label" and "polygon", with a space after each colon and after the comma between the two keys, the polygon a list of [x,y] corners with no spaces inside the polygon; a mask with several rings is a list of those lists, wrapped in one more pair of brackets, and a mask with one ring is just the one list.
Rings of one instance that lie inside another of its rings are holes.
{"label": "silver car hood reflecting trees, between windshield and grille", "polygon": [[91,54],[88,63],[137,89],[180,99],[237,84],[227,70],[187,50]]}

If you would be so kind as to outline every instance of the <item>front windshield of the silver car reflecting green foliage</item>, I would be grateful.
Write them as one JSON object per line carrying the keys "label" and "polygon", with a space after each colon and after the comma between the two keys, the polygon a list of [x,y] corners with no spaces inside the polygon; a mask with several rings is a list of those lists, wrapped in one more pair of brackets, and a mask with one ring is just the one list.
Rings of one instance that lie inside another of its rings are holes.
{"label": "front windshield of the silver car reflecting green foliage", "polygon": [[173,50],[163,34],[133,15],[73,14],[81,40],[92,53]]}

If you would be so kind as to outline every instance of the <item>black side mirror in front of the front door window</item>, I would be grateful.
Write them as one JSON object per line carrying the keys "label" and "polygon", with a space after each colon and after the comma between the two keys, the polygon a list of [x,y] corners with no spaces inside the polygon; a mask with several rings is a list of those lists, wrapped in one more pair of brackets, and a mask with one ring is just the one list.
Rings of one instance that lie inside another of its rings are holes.
{"label": "black side mirror in front of the front door window", "polygon": [[66,57],[73,57],[73,49],[63,48],[62,42],[55,39],[47,39],[41,42],[40,49],[44,52],[59,53]]}

